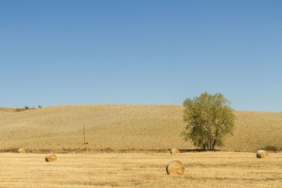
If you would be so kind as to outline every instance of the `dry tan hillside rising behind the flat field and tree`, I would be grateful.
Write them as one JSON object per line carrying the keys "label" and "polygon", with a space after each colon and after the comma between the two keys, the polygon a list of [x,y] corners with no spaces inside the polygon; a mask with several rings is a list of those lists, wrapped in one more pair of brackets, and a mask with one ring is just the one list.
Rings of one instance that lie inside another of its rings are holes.
{"label": "dry tan hillside rising behind the flat field and tree", "polygon": [[[18,113],[0,111],[0,151],[127,152],[195,149],[180,137],[179,105],[52,106]],[[235,111],[235,131],[226,151],[281,149],[282,113]],[[85,125],[86,142],[83,145]],[[262,137],[262,132],[264,137]]]}

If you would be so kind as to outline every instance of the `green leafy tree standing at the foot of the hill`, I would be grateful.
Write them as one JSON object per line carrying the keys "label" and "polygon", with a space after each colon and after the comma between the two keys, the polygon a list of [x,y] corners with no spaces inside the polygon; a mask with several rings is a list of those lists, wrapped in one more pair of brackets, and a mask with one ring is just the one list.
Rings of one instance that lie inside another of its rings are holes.
{"label": "green leafy tree standing at the foot of the hill", "polygon": [[214,150],[223,146],[226,134],[232,134],[235,115],[230,101],[223,94],[204,92],[183,102],[186,127],[181,135],[185,141],[192,140],[194,146]]}

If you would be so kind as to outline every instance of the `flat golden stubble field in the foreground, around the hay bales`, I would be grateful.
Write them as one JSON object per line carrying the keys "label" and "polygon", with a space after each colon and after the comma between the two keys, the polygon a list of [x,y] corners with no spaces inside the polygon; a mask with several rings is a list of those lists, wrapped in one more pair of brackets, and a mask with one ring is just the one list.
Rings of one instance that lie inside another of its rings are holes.
{"label": "flat golden stubble field in the foreground, around the hay bales", "polygon": [[[282,153],[0,153],[0,187],[282,187]],[[185,175],[166,175],[178,159]]]}

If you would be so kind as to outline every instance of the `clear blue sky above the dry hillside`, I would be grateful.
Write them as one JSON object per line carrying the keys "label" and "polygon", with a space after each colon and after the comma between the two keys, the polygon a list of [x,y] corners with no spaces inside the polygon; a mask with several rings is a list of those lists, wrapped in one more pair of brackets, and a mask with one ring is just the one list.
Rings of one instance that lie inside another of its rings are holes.
{"label": "clear blue sky above the dry hillside", "polygon": [[0,1],[0,106],[282,111],[282,1]]}

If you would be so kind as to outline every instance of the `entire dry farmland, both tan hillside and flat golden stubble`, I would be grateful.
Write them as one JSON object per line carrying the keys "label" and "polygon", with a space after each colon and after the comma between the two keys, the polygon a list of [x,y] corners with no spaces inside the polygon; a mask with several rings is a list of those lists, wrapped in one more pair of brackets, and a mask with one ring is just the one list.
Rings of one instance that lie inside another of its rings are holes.
{"label": "entire dry farmland, both tan hillside and flat golden stubble", "polygon": [[[2,108],[0,151],[35,153],[0,153],[0,187],[282,187],[282,153],[264,159],[246,152],[171,156],[171,148],[194,149],[179,136],[182,110],[177,105]],[[234,134],[222,150],[282,148],[282,113],[235,115]],[[58,161],[46,163],[46,152],[58,153]],[[185,164],[185,175],[166,175],[171,159]]]}

